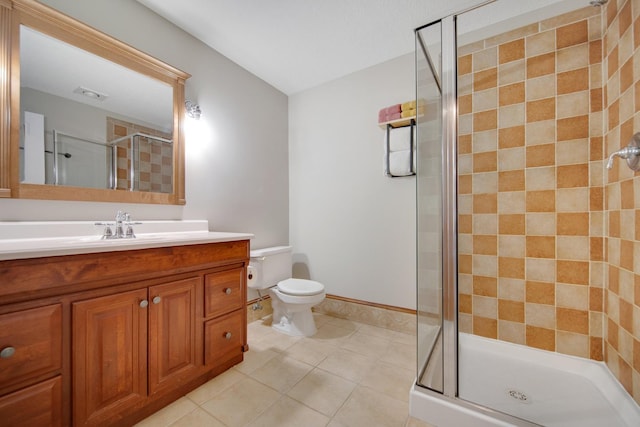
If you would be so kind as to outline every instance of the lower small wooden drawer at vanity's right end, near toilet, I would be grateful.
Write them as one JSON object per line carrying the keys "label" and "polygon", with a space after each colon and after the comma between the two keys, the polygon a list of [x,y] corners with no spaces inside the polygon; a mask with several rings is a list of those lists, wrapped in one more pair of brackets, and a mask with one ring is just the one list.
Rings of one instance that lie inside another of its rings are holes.
{"label": "lower small wooden drawer at vanity's right end, near toilet", "polygon": [[204,324],[204,363],[207,366],[242,354],[243,313],[243,310],[238,310]]}

